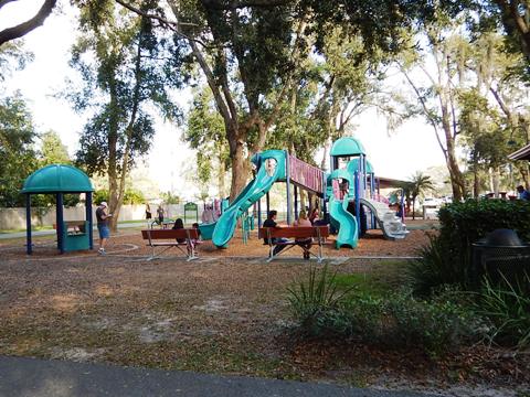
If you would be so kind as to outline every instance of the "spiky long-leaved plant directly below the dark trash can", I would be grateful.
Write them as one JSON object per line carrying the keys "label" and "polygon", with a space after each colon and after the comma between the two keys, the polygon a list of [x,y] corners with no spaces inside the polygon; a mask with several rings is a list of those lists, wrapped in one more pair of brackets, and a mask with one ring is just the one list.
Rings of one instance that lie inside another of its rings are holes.
{"label": "spiky long-leaved plant directly below the dark trash can", "polygon": [[530,346],[530,276],[520,283],[504,278],[494,285],[487,278],[476,303],[477,313],[487,318],[492,326],[489,339],[506,345]]}

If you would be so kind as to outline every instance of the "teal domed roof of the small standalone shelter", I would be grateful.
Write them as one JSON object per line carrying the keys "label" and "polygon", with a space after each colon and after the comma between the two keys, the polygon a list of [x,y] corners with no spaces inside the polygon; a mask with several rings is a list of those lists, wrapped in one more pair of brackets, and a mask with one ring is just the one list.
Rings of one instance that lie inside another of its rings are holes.
{"label": "teal domed roof of the small standalone shelter", "polygon": [[22,193],[85,193],[93,192],[91,180],[72,165],[51,164],[26,178]]}

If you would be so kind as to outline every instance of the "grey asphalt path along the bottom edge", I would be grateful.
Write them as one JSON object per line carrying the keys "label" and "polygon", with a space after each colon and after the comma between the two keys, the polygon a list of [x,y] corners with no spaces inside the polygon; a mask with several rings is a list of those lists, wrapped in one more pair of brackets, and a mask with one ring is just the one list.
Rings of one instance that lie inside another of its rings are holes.
{"label": "grey asphalt path along the bottom edge", "polygon": [[0,356],[0,396],[426,397],[427,395],[321,383]]}

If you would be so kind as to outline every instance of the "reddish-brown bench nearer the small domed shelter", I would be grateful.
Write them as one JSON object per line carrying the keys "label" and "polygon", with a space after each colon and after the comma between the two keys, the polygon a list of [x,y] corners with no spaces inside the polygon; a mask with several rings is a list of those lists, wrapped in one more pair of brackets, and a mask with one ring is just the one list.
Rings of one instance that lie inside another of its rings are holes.
{"label": "reddish-brown bench nearer the small domed shelter", "polygon": [[[144,239],[147,239],[147,245],[151,247],[151,256],[148,260],[159,258],[160,255],[167,250],[177,247],[186,254],[187,260],[193,260],[198,257],[195,256],[195,244],[199,244],[199,229],[197,228],[182,228],[182,229],[147,229],[141,230],[141,236]],[[177,242],[178,239],[184,239],[183,243]],[[182,246],[186,246],[186,251],[182,249]],[[155,249],[157,247],[163,247],[158,255],[155,255]]]}

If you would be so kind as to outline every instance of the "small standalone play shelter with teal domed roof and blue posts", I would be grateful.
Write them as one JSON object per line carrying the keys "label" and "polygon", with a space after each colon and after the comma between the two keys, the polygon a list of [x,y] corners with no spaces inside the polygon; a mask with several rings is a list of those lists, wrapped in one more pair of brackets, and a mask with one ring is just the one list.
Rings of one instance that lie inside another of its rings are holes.
{"label": "small standalone play shelter with teal domed roof and blue posts", "polygon": [[[31,243],[31,195],[55,194],[57,249],[65,251],[93,249],[92,186],[88,176],[72,165],[52,164],[33,172],[24,182],[25,194],[26,251],[32,253]],[[86,217],[83,221],[64,222],[64,194],[85,193]]]}

